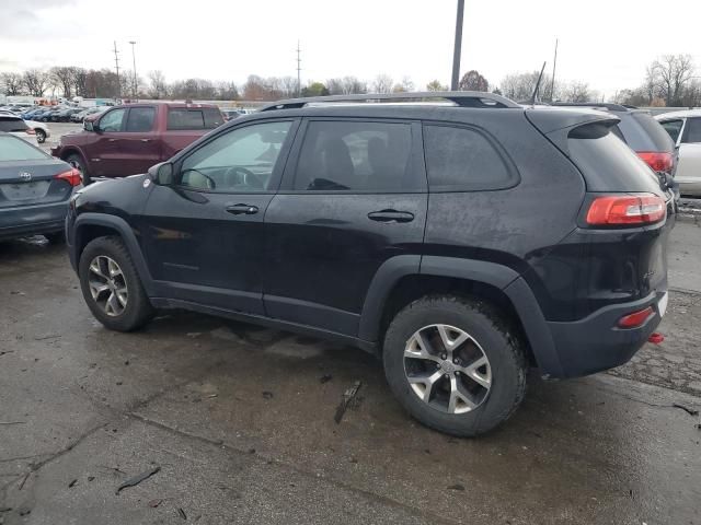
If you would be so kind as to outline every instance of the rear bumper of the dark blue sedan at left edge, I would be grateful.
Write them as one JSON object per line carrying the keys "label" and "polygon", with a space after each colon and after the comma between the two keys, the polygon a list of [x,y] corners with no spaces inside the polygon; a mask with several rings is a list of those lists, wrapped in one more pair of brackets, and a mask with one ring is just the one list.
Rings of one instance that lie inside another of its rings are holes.
{"label": "rear bumper of the dark blue sedan at left edge", "polygon": [[0,238],[54,233],[64,230],[68,201],[0,210]]}

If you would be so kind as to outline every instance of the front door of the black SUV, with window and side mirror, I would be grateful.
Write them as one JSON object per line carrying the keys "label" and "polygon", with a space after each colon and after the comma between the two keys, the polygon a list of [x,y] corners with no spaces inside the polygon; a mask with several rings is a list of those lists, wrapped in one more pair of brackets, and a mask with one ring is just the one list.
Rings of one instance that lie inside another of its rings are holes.
{"label": "front door of the black SUV, with window and side mirror", "polygon": [[143,247],[164,296],[262,314],[263,219],[294,120],[223,130],[175,163],[143,213]]}

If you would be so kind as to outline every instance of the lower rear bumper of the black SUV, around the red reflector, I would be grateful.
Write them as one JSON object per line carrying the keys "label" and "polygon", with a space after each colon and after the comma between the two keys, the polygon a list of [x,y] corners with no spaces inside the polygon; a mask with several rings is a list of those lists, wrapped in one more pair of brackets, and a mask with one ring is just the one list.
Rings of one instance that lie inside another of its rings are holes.
{"label": "lower rear bumper of the black SUV, around the red reflector", "polygon": [[[665,293],[657,291],[640,301],[607,306],[577,322],[548,322],[561,365],[558,376],[588,375],[630,361],[659,325],[659,301]],[[617,327],[622,316],[647,306],[655,314],[642,326]]]}

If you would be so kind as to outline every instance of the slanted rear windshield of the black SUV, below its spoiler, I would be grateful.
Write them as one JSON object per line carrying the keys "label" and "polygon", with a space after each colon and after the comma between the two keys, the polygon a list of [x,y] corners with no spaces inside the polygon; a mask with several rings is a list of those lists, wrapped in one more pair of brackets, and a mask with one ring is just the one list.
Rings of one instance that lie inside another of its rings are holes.
{"label": "slanted rear windshield of the black SUV, below its spoiler", "polygon": [[[663,132],[666,135],[664,129]],[[589,191],[659,191],[655,173],[600,124],[571,131],[567,149]]]}

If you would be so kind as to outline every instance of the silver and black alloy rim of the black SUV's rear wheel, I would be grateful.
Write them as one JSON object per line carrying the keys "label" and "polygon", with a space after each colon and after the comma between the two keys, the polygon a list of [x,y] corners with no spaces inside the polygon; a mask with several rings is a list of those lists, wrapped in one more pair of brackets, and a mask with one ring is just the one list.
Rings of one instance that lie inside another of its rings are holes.
{"label": "silver and black alloy rim of the black SUV's rear wheel", "polygon": [[492,387],[484,350],[468,332],[450,325],[428,325],[409,338],[404,373],[422,401],[447,413],[474,410]]}

